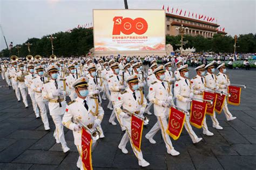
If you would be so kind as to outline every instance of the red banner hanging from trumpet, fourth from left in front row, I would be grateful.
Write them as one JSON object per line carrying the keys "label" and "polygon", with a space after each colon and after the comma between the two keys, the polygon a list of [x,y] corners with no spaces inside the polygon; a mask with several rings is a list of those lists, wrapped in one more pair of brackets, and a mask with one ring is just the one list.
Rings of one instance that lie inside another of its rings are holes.
{"label": "red banner hanging from trumpet, fourth from left in front row", "polygon": [[190,110],[190,124],[198,129],[202,128],[206,114],[206,103],[192,101]]}

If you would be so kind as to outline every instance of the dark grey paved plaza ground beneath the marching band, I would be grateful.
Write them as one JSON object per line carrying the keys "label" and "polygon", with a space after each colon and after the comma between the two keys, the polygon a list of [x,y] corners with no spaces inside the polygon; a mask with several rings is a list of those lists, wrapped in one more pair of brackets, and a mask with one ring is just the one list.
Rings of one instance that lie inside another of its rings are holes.
{"label": "dark grey paved plaza ground beneath the marching band", "polygon": [[[190,77],[196,73],[190,68]],[[156,116],[151,115],[150,124],[144,126],[142,151],[150,166],[145,169],[255,169],[256,168],[256,70],[227,70],[231,82],[246,84],[242,89],[241,104],[238,107],[228,105],[237,119],[227,122],[222,112],[217,118],[223,130],[212,128],[207,116],[209,130],[214,136],[207,137],[203,130],[193,128],[203,141],[194,145],[185,128],[178,140],[172,140],[173,146],[180,152],[178,157],[167,154],[160,132],[151,144],[144,136],[156,123]],[[146,89],[146,88],[145,88]],[[147,91],[145,92],[147,94]],[[102,128],[104,139],[99,139],[92,153],[94,169],[140,169],[130,143],[129,154],[118,149],[123,132],[120,126],[110,125],[108,120],[111,110],[106,108]],[[151,109],[153,112],[153,108]],[[0,80],[0,169],[77,169],[78,152],[73,144],[72,131],[64,128],[65,139],[71,151],[63,153],[60,144],[55,143],[53,130],[55,126],[48,113],[50,131],[44,131],[41,119],[33,114],[31,101],[25,109],[22,102],[17,102],[13,90],[9,90]]]}

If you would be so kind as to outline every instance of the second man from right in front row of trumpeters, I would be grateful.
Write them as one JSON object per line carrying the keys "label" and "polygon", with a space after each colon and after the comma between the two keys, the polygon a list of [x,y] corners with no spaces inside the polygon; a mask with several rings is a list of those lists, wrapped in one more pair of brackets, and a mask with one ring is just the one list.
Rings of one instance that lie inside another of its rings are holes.
{"label": "second man from right in front row of trumpeters", "polygon": [[[211,90],[218,90],[219,86],[217,85],[217,77],[215,74],[213,74],[213,72],[215,71],[214,62],[206,65],[205,69],[207,70],[207,73],[205,75],[206,88]],[[213,116],[211,116],[211,119],[213,128],[219,130],[223,129],[223,127],[219,125],[219,121],[216,118],[215,110],[213,111]]]}

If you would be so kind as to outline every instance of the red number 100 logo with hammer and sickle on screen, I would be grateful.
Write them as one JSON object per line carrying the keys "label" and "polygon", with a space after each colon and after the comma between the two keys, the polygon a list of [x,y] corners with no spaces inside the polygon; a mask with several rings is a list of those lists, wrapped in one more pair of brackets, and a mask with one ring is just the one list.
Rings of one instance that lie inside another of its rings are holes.
{"label": "red number 100 logo with hammer and sickle on screen", "polygon": [[132,33],[144,34],[147,31],[147,22],[143,18],[123,18],[123,17],[114,17],[113,18],[113,35],[120,35],[120,32],[126,35]]}

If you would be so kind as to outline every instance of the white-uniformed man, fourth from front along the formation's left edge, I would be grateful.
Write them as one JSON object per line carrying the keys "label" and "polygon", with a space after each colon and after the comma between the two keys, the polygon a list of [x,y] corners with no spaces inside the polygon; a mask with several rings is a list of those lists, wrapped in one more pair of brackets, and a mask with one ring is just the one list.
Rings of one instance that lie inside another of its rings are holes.
{"label": "white-uniformed man, fourth from front along the formation's left edge", "polygon": [[29,74],[25,76],[25,85],[28,87],[28,93],[31,98],[32,106],[33,106],[33,111],[35,112],[36,118],[40,117],[39,116],[39,110],[37,107],[36,99],[35,99],[35,91],[31,88],[32,85],[32,79],[35,77],[35,66],[32,64],[28,65],[28,70]]}

